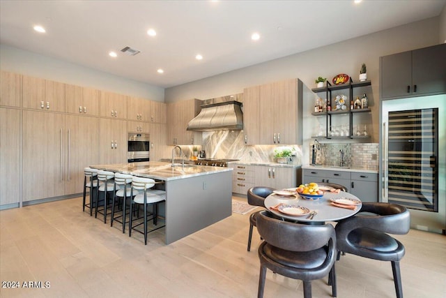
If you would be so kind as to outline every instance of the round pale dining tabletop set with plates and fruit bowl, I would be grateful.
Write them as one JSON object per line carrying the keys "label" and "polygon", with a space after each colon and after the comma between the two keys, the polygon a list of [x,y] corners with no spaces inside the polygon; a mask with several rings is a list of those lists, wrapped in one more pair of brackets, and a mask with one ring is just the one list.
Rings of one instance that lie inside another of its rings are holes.
{"label": "round pale dining tabletop set with plates and fruit bowl", "polygon": [[[353,199],[357,200],[357,204],[355,205],[355,209],[336,207],[332,204],[332,201],[337,199]],[[316,200],[302,198],[298,193],[286,196],[272,193],[265,199],[264,204],[266,209],[280,218],[307,224],[323,224],[326,221],[340,221],[341,219],[354,216],[362,207],[362,202],[359,198],[351,193],[346,193],[345,191],[341,191],[340,193],[330,193],[327,191],[322,198]],[[279,204],[291,205],[293,207],[305,207],[309,209],[309,213],[298,216],[286,214],[275,208]],[[316,211],[316,214],[310,218],[310,213],[312,211]]]}

